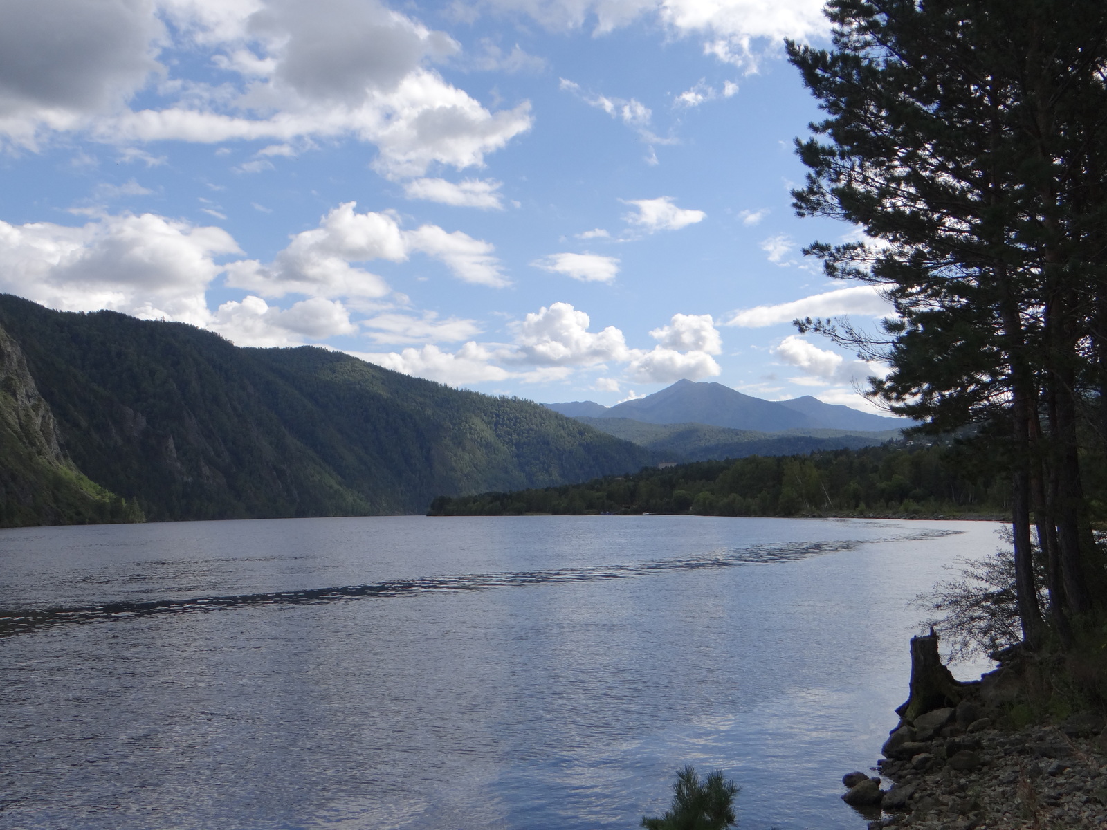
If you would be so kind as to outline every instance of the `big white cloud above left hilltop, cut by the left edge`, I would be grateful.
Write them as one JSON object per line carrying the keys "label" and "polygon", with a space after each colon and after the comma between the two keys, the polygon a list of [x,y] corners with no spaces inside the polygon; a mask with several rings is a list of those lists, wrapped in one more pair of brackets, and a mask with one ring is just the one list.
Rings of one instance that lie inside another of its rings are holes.
{"label": "big white cloud above left hilltop, cut by the left edge", "polygon": [[111,309],[205,325],[215,257],[240,253],[221,228],[153,214],[82,227],[0,221],[0,291],[64,311]]}

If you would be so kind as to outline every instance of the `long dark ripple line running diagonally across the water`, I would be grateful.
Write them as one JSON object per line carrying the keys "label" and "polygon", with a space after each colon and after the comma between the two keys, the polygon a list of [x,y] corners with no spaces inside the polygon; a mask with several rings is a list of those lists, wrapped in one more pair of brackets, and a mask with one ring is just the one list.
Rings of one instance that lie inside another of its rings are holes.
{"label": "long dark ripple line running diagonally across the water", "polygon": [[228,596],[196,596],[185,600],[147,600],[112,602],[101,605],[53,608],[27,611],[0,610],[0,637],[23,634],[55,625],[112,622],[139,615],[186,614],[259,605],[328,604],[362,598],[411,596],[428,592],[483,591],[494,588],[540,585],[554,582],[594,582],[608,579],[633,579],[656,573],[693,571],[704,568],[734,568],[744,564],[787,562],[825,553],[852,550],[860,544],[898,541],[925,541],[962,533],[961,530],[930,528],[891,539],[836,540],[820,542],[787,542],[756,544],[748,548],[722,548],[687,559],[654,562],[596,566],[556,570],[500,573],[452,574],[385,580],[361,585],[309,588],[296,591],[272,591]]}

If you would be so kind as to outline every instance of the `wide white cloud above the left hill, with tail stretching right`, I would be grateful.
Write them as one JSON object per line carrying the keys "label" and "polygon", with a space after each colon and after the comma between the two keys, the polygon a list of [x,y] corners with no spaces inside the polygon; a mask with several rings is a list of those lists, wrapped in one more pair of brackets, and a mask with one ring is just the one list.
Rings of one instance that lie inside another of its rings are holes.
{"label": "wide white cloud above the left hill, with tail stretching right", "polygon": [[402,230],[392,214],[359,214],[355,207],[356,203],[348,201],[334,208],[318,228],[293,236],[269,264],[258,260],[229,263],[227,284],[271,298],[290,293],[380,298],[390,291],[384,279],[353,263],[400,262],[414,251],[442,260],[467,282],[507,284],[490,243],[435,225]]}

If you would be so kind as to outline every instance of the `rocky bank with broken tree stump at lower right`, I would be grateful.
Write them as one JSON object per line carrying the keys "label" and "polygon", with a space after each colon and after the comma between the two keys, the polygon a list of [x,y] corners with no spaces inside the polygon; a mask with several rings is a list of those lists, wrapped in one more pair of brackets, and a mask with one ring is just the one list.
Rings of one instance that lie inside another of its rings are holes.
{"label": "rocky bank with broken tree stump at lower right", "polygon": [[842,779],[842,798],[870,819],[870,829],[1107,830],[1101,713],[1015,728],[1013,716],[1025,712],[1018,707],[1035,679],[1020,655],[1008,654],[980,681],[959,683],[944,666],[917,660],[917,651],[937,657],[937,637],[912,641],[911,698],[897,709],[880,776]]}

